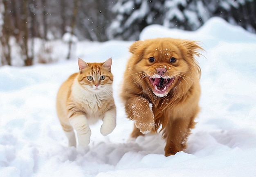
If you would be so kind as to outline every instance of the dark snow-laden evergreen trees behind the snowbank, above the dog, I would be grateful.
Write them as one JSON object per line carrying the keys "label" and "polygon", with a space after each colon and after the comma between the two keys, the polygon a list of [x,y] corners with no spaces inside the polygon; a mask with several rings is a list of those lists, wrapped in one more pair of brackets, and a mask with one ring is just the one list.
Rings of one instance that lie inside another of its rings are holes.
{"label": "dark snow-laden evergreen trees behind the snowbank, above the dog", "polygon": [[118,0],[110,38],[137,40],[149,24],[196,30],[210,17],[222,17],[251,32],[256,29],[255,0]]}

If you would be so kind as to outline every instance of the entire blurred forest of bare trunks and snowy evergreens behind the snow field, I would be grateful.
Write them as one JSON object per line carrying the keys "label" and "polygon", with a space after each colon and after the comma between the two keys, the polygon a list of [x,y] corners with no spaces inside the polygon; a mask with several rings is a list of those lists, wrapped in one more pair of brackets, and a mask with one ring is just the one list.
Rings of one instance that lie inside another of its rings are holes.
{"label": "entire blurred forest of bare trunks and snowy evergreens behind the snow field", "polygon": [[193,31],[214,16],[256,33],[256,0],[0,0],[0,66],[12,65],[14,46],[32,65],[38,40],[47,54],[54,40],[67,50],[77,40],[138,40],[150,24]]}

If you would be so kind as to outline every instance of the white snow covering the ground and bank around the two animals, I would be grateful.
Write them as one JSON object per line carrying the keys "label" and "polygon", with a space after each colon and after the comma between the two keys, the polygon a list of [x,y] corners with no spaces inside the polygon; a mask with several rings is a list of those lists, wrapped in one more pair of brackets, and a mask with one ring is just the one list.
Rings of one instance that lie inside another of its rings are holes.
{"label": "white snow covering the ground and bank around the two animals", "polygon": [[[0,176],[255,176],[256,35],[212,18],[197,31],[152,25],[140,39],[175,37],[202,42],[201,112],[185,152],[165,157],[160,135],[127,142],[133,128],[119,100],[132,42],[78,42],[76,58],[54,64],[0,68]],[[54,46],[59,52],[65,44]],[[66,52],[66,51],[65,51]],[[58,87],[87,62],[112,57],[117,127],[92,130],[89,149],[67,147],[55,111]]]}

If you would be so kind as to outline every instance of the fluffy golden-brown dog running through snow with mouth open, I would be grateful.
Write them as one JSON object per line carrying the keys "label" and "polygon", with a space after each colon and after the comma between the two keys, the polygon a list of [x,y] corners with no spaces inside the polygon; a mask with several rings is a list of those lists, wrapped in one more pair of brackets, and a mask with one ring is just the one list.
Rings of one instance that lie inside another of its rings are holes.
{"label": "fluffy golden-brown dog running through snow with mouth open", "polygon": [[128,118],[135,121],[131,137],[163,131],[165,155],[186,148],[199,112],[200,67],[197,42],[157,38],[130,46],[121,98]]}

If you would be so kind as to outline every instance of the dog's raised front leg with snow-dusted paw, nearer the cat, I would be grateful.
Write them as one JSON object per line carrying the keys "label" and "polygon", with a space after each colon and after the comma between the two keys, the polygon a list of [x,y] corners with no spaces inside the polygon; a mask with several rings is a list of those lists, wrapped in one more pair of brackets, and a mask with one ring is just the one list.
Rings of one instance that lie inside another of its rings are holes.
{"label": "dog's raised front leg with snow-dusted paw, nearer the cat", "polygon": [[141,133],[148,133],[155,125],[152,103],[146,98],[136,96],[128,99],[125,105],[126,114],[131,120],[135,120],[135,127]]}

